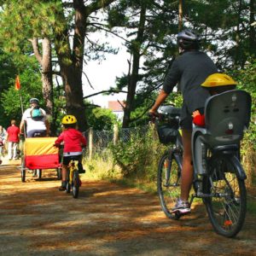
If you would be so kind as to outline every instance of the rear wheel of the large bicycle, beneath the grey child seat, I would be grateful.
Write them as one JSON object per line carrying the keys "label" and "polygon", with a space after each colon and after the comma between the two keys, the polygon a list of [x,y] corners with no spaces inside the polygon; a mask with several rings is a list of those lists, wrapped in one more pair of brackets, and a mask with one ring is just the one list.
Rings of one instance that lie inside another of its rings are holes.
{"label": "rear wheel of the large bicycle, beneath the grey child seat", "polygon": [[227,237],[241,230],[247,209],[246,186],[237,170],[242,167],[237,167],[237,162],[225,156],[211,160],[210,174],[204,181],[205,192],[212,195],[204,199],[208,217],[214,230]]}

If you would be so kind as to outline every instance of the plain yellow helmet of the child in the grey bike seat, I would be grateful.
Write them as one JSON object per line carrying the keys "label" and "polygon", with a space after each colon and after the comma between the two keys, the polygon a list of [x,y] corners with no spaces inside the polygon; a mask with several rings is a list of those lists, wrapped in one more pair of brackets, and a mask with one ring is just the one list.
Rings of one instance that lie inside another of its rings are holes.
{"label": "plain yellow helmet of the child in the grey bike seat", "polygon": [[212,73],[207,79],[201,84],[203,87],[218,87],[226,85],[236,85],[236,81],[231,79],[230,76],[224,73]]}

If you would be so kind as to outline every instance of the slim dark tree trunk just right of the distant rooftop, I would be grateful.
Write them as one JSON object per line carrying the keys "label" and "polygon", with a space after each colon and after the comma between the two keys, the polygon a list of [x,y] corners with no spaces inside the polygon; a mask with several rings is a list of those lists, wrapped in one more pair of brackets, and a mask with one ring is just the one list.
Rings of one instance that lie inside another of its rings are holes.
{"label": "slim dark tree trunk just right of the distant rooftop", "polygon": [[128,93],[126,96],[125,109],[124,109],[124,118],[123,118],[123,128],[129,127],[131,123],[131,111],[132,111],[132,103],[134,102],[135,92],[137,88],[138,81],[138,73],[140,67],[140,58],[141,58],[141,46],[143,44],[143,34],[145,29],[146,22],[146,4],[142,2],[142,9],[140,13],[140,21],[137,31],[137,38],[133,42],[132,46],[132,69],[131,75],[128,74]]}

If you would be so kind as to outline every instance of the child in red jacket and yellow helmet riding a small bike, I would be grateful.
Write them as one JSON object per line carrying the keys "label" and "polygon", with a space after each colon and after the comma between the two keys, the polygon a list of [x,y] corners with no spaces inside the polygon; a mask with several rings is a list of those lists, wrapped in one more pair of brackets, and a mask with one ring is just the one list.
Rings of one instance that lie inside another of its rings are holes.
{"label": "child in red jacket and yellow helmet riding a small bike", "polygon": [[67,188],[67,166],[71,160],[79,160],[79,169],[82,167],[82,148],[86,146],[86,138],[77,130],[77,119],[73,115],[66,115],[62,119],[64,131],[55,140],[55,147],[64,143],[62,162],[62,181],[60,191]]}

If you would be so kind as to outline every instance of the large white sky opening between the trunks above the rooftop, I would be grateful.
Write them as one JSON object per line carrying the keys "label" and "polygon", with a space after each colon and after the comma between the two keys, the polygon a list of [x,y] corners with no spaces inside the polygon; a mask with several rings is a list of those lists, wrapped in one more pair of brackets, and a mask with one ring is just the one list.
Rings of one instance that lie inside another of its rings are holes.
{"label": "large white sky opening between the trunks above the rooftop", "polygon": [[[99,63],[99,61],[89,61],[84,67],[84,72],[90,79],[90,84],[94,87],[94,89],[92,89],[85,76],[83,76],[84,96],[89,96],[101,90],[108,90],[110,87],[114,86],[116,77],[127,73],[127,60],[130,59],[130,55],[122,45],[121,39],[112,38],[111,44],[113,47],[119,48],[117,55],[105,55],[106,60],[101,61],[101,63]],[[125,94],[119,93],[113,96],[98,95],[90,97],[88,100],[102,108],[108,108],[108,101],[125,100]]]}

